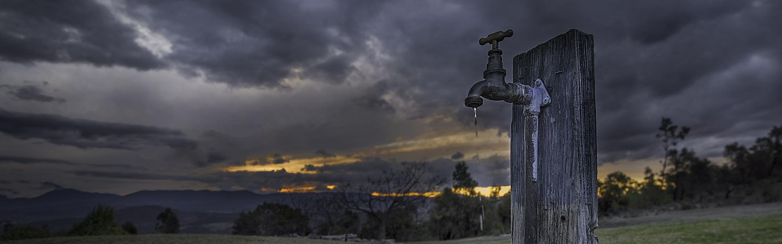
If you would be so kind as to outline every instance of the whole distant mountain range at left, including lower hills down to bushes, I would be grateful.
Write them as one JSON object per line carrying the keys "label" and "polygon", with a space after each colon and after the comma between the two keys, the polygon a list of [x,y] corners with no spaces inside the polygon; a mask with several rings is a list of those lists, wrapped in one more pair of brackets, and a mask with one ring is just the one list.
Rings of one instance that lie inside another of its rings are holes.
{"label": "whole distant mountain range at left, including lower hills down to bushes", "polygon": [[292,195],[322,193],[257,194],[249,191],[141,191],[119,196],[57,189],[34,198],[0,196],[0,221],[46,224],[50,231],[65,231],[98,204],[113,206],[115,221],[131,221],[139,233],[154,230],[157,214],[165,208],[177,213],[184,233],[230,234],[231,224],[242,210],[264,202],[287,203]]}

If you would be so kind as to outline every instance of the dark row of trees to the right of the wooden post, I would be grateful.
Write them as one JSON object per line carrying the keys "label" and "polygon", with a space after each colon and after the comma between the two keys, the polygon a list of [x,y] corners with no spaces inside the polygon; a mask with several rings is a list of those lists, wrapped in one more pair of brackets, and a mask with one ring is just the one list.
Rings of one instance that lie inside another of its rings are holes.
{"label": "dark row of trees to the right of the wooden post", "polygon": [[782,126],[750,146],[734,142],[723,150],[726,163],[713,163],[677,145],[690,132],[662,118],[659,133],[665,154],[662,170],[646,167],[636,181],[621,171],[598,181],[601,215],[637,215],[644,210],[690,209],[782,200]]}

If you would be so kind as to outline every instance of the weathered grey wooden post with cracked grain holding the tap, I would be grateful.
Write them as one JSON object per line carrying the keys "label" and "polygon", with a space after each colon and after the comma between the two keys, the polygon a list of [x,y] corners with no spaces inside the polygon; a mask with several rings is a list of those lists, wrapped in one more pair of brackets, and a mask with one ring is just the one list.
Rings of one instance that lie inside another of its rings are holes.
{"label": "weathered grey wooden post with cracked grain holding the tap", "polygon": [[[536,79],[543,80],[551,103],[538,116],[513,105],[512,243],[597,243],[592,35],[569,30],[515,56],[513,82],[534,86]],[[536,143],[529,143],[534,137]]]}

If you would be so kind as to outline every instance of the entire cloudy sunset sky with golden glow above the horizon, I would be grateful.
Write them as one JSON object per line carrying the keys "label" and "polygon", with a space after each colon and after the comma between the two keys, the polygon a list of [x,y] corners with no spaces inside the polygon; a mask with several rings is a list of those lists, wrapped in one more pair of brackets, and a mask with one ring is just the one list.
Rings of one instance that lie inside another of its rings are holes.
{"label": "entire cloudy sunset sky with golden glow above the horizon", "polygon": [[[0,1],[0,195],[326,190],[408,161],[508,185],[511,106],[464,106],[488,46],[594,34],[599,176],[782,125],[782,2]],[[507,81],[510,81],[508,79]],[[475,130],[478,130],[478,137]]]}

